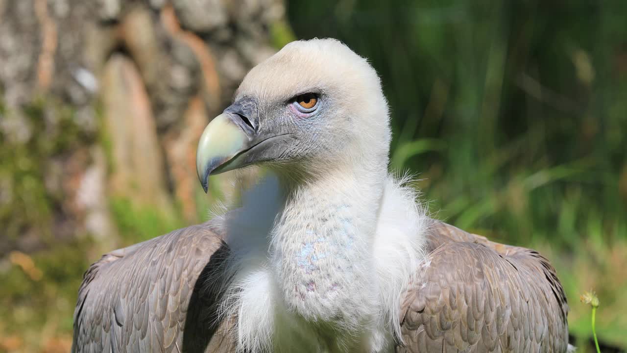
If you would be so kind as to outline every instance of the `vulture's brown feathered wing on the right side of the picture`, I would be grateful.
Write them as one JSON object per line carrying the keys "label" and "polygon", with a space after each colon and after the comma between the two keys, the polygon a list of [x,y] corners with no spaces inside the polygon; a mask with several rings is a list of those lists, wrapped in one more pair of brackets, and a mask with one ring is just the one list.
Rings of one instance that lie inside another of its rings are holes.
{"label": "vulture's brown feathered wing on the right side of the picture", "polygon": [[401,304],[403,352],[566,352],[568,305],[536,251],[434,221]]}

